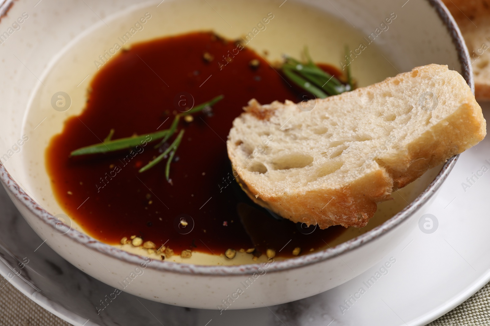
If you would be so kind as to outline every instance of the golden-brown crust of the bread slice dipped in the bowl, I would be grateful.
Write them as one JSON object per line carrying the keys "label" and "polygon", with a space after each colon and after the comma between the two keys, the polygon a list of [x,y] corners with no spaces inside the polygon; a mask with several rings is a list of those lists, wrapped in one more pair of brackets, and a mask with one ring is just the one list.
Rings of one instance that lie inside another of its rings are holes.
{"label": "golden-brown crust of the bread slice dipped in the bowl", "polygon": [[[404,79],[416,78],[414,76],[417,75],[425,79],[428,76],[441,78],[441,74],[447,71],[447,66],[441,65],[416,67],[411,72],[401,73],[363,89],[356,89],[350,92],[352,94],[343,93],[317,101],[323,106],[328,106],[330,101],[340,102],[341,98],[349,99],[349,96],[352,98],[359,95],[355,92],[381,94],[387,89],[392,89],[388,87],[393,83],[398,85]],[[236,139],[231,136],[236,124],[242,123],[244,118],[268,124],[271,117],[280,114],[282,108],[288,105],[274,102],[261,106],[258,102],[251,101],[245,112],[234,121],[234,127],[228,136],[227,150],[234,176],[255,203],[294,222],[319,225],[321,229],[339,224],[344,227],[363,227],[376,212],[377,203],[392,199],[391,193],[394,190],[406,186],[428,169],[476,145],[485,137],[486,122],[480,106],[463,77],[457,72],[451,74],[454,76],[451,81],[454,80],[457,84],[454,91],[458,92],[460,104],[450,115],[431,128],[424,129],[425,131],[411,141],[406,149],[394,151],[390,147],[390,150],[381,153],[368,164],[366,172],[363,170],[362,173],[356,174],[352,171],[354,177],[344,180],[336,187],[320,185],[307,190],[288,188],[278,193],[274,185],[264,186],[249,172],[245,173],[245,170],[239,168],[242,158],[237,150]],[[439,101],[443,103],[445,99],[439,98]],[[434,111],[434,114],[437,114],[437,111]],[[393,146],[395,145],[396,140]]]}

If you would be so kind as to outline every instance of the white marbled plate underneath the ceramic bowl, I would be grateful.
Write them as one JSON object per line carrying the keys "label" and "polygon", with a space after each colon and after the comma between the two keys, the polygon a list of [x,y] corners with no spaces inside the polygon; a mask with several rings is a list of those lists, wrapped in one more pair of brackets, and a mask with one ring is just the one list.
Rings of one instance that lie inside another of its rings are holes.
{"label": "white marbled plate underneath the ceramic bowl", "polygon": [[[484,105],[484,114],[490,118],[489,104]],[[121,293],[97,314],[95,306],[114,289],[64,261],[47,245],[38,247],[43,240],[27,225],[3,191],[0,194],[0,274],[13,275],[12,268],[17,268],[20,276],[10,280],[16,288],[57,316],[80,326],[426,325],[461,304],[490,280],[488,169],[490,138],[487,137],[461,155],[435,200],[418,211],[419,217],[425,214],[436,217],[435,232],[424,233],[413,223],[410,236],[367,272],[329,291],[289,304],[220,312],[159,304]],[[473,173],[483,175],[477,179]],[[469,183],[466,178],[472,176],[475,182]],[[469,187],[463,187],[463,182]],[[24,258],[28,263],[18,265]],[[396,261],[389,264],[388,272],[382,270],[385,275],[380,273],[379,279],[371,281],[374,284],[369,283],[368,287],[365,283],[376,277],[376,272],[390,258]],[[357,294],[359,299],[350,299],[361,287],[365,292]],[[250,293],[253,295],[253,289]],[[351,304],[347,306],[344,300],[349,299]]]}

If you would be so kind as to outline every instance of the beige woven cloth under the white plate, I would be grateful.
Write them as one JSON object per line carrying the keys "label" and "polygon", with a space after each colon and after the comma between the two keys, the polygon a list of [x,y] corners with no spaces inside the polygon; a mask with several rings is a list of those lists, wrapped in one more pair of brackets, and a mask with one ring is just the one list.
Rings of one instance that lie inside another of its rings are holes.
{"label": "beige woven cloth under the white plate", "polygon": [[[12,284],[0,289],[0,326],[69,326]],[[428,326],[490,326],[490,283]]]}

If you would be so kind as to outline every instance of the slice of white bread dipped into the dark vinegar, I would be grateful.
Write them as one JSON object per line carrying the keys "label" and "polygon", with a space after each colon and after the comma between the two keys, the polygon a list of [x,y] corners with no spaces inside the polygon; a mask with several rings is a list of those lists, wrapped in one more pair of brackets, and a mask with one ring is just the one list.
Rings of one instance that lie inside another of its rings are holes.
{"label": "slice of white bread dipped into the dark vinegar", "polygon": [[363,227],[376,203],[485,135],[463,77],[426,65],[308,103],[251,100],[227,149],[234,176],[259,205],[322,229]]}

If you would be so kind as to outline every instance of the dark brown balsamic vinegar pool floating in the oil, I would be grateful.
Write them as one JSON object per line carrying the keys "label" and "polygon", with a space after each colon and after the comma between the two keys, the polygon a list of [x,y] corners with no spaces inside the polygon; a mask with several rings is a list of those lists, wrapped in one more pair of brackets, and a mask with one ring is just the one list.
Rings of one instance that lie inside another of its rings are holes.
{"label": "dark brown balsamic vinegar pool floating in the oil", "polygon": [[[89,235],[109,244],[136,235],[157,248],[167,243],[175,254],[255,247],[292,257],[295,247],[308,253],[342,232],[341,226],[320,230],[274,219],[251,203],[231,176],[225,141],[242,107],[251,98],[264,104],[301,100],[301,92],[260,55],[238,50],[236,43],[212,33],[168,37],[120,51],[94,77],[85,110],[66,121],[46,152],[58,202]],[[203,59],[209,60],[208,54],[210,62]],[[260,62],[257,68],[249,65],[254,59]],[[187,94],[180,97],[182,92]],[[186,131],[171,164],[172,184],[165,178],[166,160],[138,173],[159,154],[155,142],[140,147],[134,157],[129,151],[70,157],[77,148],[101,142],[111,128],[112,139],[168,129],[178,109],[185,110],[185,101],[192,103],[189,94],[195,105],[220,94],[224,99],[212,115],[198,113],[190,123],[181,119],[179,130]],[[186,227],[179,224],[182,217],[189,222]]]}

